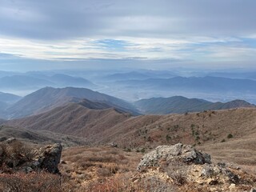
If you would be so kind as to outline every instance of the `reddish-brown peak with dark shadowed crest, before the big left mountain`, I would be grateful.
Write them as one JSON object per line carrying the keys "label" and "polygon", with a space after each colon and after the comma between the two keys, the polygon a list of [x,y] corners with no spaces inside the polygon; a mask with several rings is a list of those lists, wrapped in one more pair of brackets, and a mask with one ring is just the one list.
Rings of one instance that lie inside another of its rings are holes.
{"label": "reddish-brown peak with dark shadowed crest, before the big left mountain", "polygon": [[83,100],[81,103],[58,106],[46,113],[10,120],[5,124],[90,138],[91,134],[107,130],[127,118],[130,118],[130,114],[98,102]]}

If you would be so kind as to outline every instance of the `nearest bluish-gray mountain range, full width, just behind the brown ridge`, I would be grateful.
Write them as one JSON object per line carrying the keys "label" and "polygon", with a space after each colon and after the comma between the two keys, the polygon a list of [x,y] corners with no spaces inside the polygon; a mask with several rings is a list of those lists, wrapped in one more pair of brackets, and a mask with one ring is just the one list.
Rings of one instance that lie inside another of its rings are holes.
{"label": "nearest bluish-gray mountain range, full width, just behind the brown ridge", "polygon": [[[18,102],[15,102],[18,101]],[[231,102],[209,102],[198,98],[175,96],[171,98],[149,98],[134,103],[102,94],[86,88],[45,87],[21,98],[13,94],[0,94],[1,118],[23,118],[41,114],[68,103],[78,103],[88,109],[110,109],[123,113],[171,114],[198,112],[202,110],[224,110],[237,107],[254,107],[243,100]]]}

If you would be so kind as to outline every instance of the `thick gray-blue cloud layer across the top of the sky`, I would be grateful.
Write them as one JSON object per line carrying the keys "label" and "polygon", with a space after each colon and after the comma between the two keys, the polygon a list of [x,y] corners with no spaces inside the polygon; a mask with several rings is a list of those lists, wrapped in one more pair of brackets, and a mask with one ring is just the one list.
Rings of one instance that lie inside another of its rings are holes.
{"label": "thick gray-blue cloud layer across the top of the sky", "polygon": [[2,0],[0,31],[20,38],[250,35],[254,1]]}

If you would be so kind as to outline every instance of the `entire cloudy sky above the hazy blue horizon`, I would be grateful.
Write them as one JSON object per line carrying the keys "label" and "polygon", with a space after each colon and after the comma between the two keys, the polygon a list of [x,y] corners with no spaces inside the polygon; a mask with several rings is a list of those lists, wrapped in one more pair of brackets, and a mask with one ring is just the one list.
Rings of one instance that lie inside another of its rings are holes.
{"label": "entire cloudy sky above the hazy blue horizon", "polygon": [[0,0],[0,70],[256,70],[254,0]]}

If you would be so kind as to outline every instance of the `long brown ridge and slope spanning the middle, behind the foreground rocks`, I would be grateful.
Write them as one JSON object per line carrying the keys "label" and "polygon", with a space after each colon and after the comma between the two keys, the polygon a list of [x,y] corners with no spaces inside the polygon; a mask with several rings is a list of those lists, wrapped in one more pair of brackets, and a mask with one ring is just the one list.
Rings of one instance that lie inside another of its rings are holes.
{"label": "long brown ridge and slope spanning the middle, behind the foreground rocks", "polygon": [[205,146],[234,138],[246,142],[247,138],[256,137],[255,116],[255,108],[130,116],[113,108],[92,110],[71,103],[3,124],[71,134],[85,138],[91,145],[116,142],[120,147],[138,149],[178,142]]}

